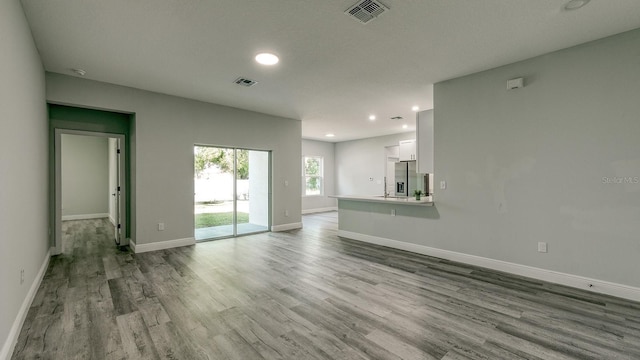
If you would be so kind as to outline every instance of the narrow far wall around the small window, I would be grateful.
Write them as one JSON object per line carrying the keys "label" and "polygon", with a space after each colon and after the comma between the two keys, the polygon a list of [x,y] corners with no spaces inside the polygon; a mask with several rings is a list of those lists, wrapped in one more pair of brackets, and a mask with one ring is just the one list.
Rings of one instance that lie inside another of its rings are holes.
{"label": "narrow far wall around the small window", "polygon": [[[302,156],[322,156],[324,162],[324,194],[322,196],[303,196],[302,213],[308,214],[337,209],[338,203],[336,199],[329,197],[336,194],[334,143],[303,139]],[[302,174],[302,172],[300,174]]]}

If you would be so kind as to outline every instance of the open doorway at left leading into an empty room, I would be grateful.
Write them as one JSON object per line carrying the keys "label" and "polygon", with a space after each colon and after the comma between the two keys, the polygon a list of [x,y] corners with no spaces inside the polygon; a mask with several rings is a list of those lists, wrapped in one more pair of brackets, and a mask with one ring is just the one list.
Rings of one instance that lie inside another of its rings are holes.
{"label": "open doorway at left leading into an empty room", "polygon": [[102,248],[105,237],[125,245],[123,143],[124,135],[56,129],[56,253]]}

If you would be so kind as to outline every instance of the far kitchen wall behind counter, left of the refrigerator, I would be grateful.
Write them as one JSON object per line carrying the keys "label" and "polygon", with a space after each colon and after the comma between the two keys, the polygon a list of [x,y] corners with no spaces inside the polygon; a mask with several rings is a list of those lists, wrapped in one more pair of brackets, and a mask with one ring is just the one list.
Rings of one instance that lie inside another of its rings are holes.
{"label": "far kitchen wall behind counter, left of the refrigerator", "polygon": [[[338,195],[383,195],[387,146],[415,139],[415,132],[336,143]],[[369,178],[373,178],[369,181]]]}

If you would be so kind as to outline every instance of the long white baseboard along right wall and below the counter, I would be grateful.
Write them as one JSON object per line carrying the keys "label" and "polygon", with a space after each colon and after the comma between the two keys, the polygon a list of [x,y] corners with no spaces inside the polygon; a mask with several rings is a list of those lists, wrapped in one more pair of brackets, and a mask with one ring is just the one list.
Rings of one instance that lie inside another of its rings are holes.
{"label": "long white baseboard along right wall and below the counter", "polygon": [[368,242],[371,244],[387,246],[394,249],[434,256],[441,259],[480,266],[488,269],[503,271],[515,275],[526,276],[537,280],[543,280],[596,293],[617,296],[628,300],[640,301],[640,288],[632,286],[616,284],[608,281],[591,279],[583,276],[561,273],[552,270],[545,270],[501,260],[489,259],[475,255],[463,254],[455,251],[442,250],[424,245],[407,243],[404,241],[360,234],[351,231],[338,230],[338,236]]}

